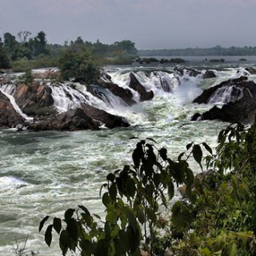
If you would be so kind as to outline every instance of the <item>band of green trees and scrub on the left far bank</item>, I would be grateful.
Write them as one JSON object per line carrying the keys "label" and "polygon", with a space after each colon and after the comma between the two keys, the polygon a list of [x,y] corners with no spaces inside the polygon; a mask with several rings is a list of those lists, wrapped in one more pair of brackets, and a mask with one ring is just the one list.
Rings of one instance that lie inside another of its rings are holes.
{"label": "band of green trees and scrub on the left far bank", "polygon": [[17,37],[9,32],[0,38],[0,68],[12,68],[14,71],[26,71],[39,67],[58,66],[58,59],[66,50],[83,47],[94,56],[94,63],[130,64],[137,56],[134,42],[123,40],[108,45],[102,42],[84,42],[81,37],[63,45],[49,44],[46,33],[40,31],[31,37],[29,31],[21,31]]}

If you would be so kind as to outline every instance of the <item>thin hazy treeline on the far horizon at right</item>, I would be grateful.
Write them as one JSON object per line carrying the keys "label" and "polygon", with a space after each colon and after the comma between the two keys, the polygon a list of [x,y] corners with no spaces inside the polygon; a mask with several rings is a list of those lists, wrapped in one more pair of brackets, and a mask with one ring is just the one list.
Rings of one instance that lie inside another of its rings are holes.
{"label": "thin hazy treeline on the far horizon at right", "polygon": [[256,55],[256,46],[138,50],[139,56],[244,56]]}

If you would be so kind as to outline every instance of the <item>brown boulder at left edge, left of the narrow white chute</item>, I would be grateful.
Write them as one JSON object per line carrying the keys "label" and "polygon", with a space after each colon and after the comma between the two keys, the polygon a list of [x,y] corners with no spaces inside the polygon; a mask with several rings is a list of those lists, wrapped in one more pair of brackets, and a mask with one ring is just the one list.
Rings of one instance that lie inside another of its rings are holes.
{"label": "brown boulder at left edge, left of the narrow white chute", "polygon": [[9,98],[0,90],[0,127],[14,127],[25,122],[12,106]]}

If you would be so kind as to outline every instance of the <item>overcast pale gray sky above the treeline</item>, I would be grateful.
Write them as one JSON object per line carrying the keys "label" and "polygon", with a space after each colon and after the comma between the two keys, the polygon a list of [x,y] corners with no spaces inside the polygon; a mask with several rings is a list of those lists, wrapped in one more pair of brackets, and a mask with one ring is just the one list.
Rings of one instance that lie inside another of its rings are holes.
{"label": "overcast pale gray sky above the treeline", "polygon": [[256,0],[0,0],[1,35],[43,30],[50,43],[81,36],[138,49],[256,46]]}

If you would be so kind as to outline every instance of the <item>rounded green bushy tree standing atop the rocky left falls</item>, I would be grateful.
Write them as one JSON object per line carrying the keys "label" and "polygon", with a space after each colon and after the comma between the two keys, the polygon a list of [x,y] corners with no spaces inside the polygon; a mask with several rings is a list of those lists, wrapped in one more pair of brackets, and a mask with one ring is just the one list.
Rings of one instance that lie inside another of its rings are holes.
{"label": "rounded green bushy tree standing atop the rocky left falls", "polygon": [[76,82],[94,83],[100,76],[93,55],[82,46],[74,45],[66,50],[58,63],[64,80],[71,78]]}

